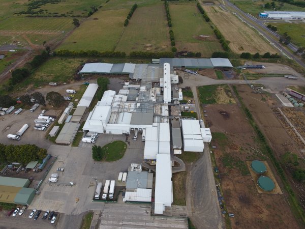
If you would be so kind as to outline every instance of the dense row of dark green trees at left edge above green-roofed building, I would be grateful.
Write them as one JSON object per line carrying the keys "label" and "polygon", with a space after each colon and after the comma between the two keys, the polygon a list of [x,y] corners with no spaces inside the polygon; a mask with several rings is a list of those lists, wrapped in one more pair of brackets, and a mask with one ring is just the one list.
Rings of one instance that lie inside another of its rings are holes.
{"label": "dense row of dark green trees at left edge above green-roofed building", "polygon": [[18,162],[26,165],[31,161],[42,161],[47,156],[47,150],[36,145],[3,145],[0,144],[0,164]]}

